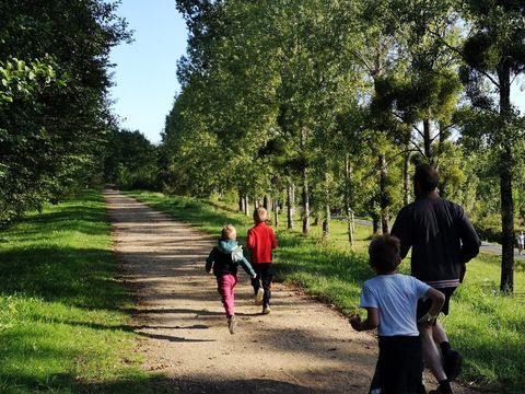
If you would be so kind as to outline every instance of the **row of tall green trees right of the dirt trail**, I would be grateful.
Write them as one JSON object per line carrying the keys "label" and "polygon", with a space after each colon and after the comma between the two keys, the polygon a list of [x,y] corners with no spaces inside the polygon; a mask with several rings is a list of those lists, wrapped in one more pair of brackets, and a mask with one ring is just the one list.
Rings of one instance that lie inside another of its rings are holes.
{"label": "row of tall green trees right of the dirt trail", "polygon": [[[415,164],[503,245],[525,221],[522,1],[177,1],[190,32],[166,119],[163,188],[301,202],[325,236],[334,213],[389,230]],[[296,195],[298,198],[293,196]],[[290,225],[292,225],[290,223]]]}

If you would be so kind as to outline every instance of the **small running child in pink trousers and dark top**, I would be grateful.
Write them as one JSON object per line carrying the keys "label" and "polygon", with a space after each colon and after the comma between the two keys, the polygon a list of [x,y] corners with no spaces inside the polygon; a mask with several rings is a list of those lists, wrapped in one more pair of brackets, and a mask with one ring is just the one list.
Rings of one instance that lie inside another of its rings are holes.
{"label": "small running child in pink trousers and dark top", "polygon": [[222,304],[226,311],[230,334],[235,334],[237,321],[235,317],[234,288],[237,283],[237,267],[244,268],[246,274],[255,278],[257,274],[243,256],[243,248],[237,245],[237,232],[232,224],[222,229],[218,245],[212,248],[206,259],[206,271],[217,277],[217,290],[222,297]]}

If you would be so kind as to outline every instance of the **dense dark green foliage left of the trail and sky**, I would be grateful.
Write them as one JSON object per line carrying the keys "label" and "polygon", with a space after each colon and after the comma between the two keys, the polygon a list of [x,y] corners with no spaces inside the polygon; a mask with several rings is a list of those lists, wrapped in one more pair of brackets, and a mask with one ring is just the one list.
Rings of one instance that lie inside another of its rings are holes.
{"label": "dense dark green foliage left of the trail and sky", "polygon": [[129,39],[98,0],[0,3],[0,225],[102,170],[109,48]]}

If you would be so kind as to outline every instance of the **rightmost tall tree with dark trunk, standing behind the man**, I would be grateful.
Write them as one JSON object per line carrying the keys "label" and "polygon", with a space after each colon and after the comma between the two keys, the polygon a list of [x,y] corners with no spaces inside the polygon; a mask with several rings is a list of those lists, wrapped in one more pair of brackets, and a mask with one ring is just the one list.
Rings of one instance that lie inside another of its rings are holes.
{"label": "rightmost tall tree with dark trunk, standing behind the man", "polygon": [[[498,160],[500,178],[502,262],[500,290],[514,289],[514,198],[512,189],[514,147],[523,139],[522,119],[511,104],[511,81],[525,70],[525,4],[521,1],[463,1],[469,28],[456,50],[466,67],[462,80],[476,111],[478,138]],[[498,95],[493,101],[491,93]]]}

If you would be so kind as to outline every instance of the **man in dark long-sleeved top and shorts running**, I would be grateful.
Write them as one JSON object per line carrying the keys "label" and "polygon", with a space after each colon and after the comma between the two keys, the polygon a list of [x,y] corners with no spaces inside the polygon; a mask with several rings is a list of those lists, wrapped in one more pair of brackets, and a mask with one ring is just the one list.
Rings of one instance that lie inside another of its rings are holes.
{"label": "man in dark long-sleeved top and shorts running", "polygon": [[[401,241],[401,258],[412,248],[411,275],[445,294],[442,312],[448,314],[450,298],[463,281],[466,263],[478,254],[481,243],[464,209],[440,197],[438,182],[433,166],[416,167],[416,201],[399,211],[392,235]],[[429,308],[428,303],[420,302],[418,318],[425,315]],[[433,325],[420,324],[419,328],[425,364],[440,382],[435,393],[452,393],[450,382],[459,373],[462,356],[451,349],[443,326],[435,320]]]}

